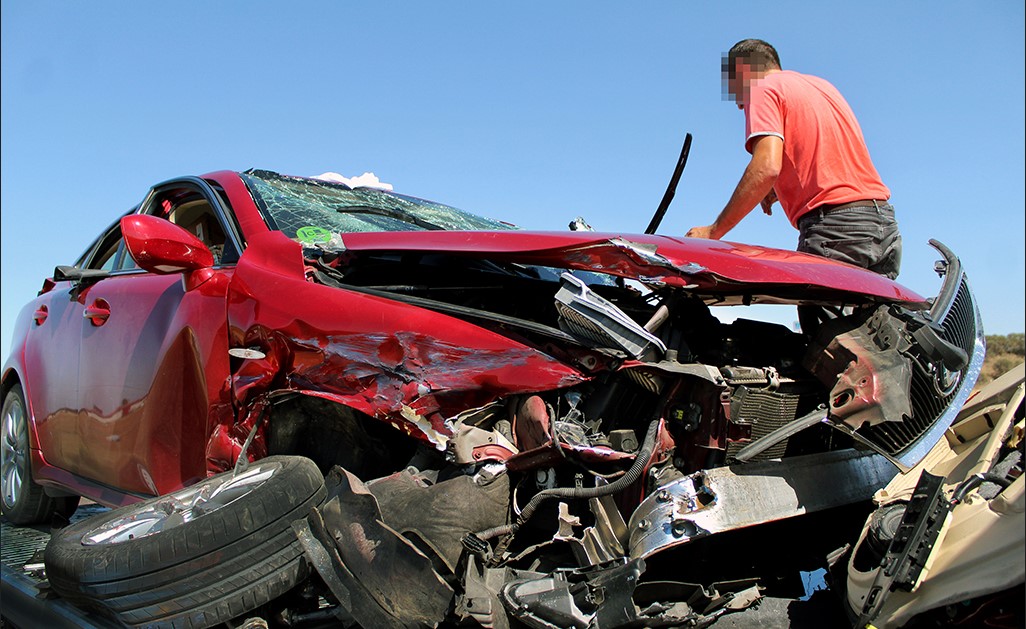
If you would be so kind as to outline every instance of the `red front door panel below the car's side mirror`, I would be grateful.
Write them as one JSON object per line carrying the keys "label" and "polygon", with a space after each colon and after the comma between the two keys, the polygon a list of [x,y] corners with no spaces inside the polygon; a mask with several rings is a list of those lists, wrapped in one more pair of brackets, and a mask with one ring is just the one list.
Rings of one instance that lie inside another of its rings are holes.
{"label": "red front door panel below the car's side mirror", "polygon": [[207,422],[228,356],[230,274],[218,270],[187,290],[182,274],[137,272],[83,292],[79,442],[71,471],[146,495],[205,475]]}

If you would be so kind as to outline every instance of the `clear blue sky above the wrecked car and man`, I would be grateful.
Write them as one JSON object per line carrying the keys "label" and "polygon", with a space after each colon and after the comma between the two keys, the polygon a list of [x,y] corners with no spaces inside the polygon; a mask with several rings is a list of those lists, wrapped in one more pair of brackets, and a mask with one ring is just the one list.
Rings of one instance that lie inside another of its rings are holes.
{"label": "clear blue sky above the wrecked car and man", "polygon": [[[774,43],[856,111],[936,293],[937,238],[988,333],[1024,325],[1024,11],[1007,2],[2,0],[2,353],[21,306],[147,188],[263,167],[565,229],[709,223],[747,154],[720,55]],[[780,211],[728,239],[793,248]]]}

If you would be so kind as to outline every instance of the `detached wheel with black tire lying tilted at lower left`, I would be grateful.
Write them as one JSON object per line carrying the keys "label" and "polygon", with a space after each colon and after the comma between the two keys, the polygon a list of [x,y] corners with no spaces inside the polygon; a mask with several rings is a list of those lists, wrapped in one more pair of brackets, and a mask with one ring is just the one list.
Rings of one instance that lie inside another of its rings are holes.
{"label": "detached wheel with black tire lying tilted at lower left", "polygon": [[53,590],[128,626],[209,627],[273,600],[308,575],[291,522],[324,499],[302,457],[268,457],[53,534]]}

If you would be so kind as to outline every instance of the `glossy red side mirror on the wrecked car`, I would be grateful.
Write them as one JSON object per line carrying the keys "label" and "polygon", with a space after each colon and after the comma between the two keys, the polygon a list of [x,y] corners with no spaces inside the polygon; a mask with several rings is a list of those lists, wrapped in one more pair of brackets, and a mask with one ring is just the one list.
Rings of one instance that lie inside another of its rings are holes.
{"label": "glossy red side mirror on the wrecked car", "polygon": [[150,273],[181,273],[213,266],[213,254],[199,238],[164,219],[149,214],[124,217],[121,235],[135,264]]}

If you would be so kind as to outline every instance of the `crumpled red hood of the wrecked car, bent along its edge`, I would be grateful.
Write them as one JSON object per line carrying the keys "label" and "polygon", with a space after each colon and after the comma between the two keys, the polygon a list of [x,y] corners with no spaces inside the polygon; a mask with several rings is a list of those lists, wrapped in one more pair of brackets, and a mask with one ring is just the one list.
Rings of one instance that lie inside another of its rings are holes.
{"label": "crumpled red hood of the wrecked car, bent along its edge", "polygon": [[348,251],[426,251],[598,271],[687,286],[698,292],[837,297],[926,307],[924,298],[876,273],[817,255],[670,236],[598,232],[367,232],[343,234]]}

